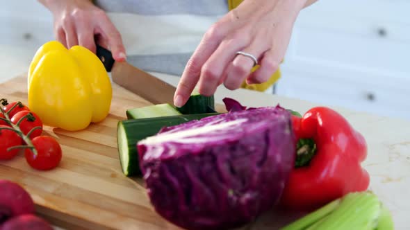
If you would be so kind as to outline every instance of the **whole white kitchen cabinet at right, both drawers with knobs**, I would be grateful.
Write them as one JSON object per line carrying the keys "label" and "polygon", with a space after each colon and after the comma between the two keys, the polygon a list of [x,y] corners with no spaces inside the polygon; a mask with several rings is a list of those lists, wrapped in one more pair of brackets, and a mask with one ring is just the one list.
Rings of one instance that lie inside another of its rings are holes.
{"label": "whole white kitchen cabinet at right, both drawers with knobs", "polygon": [[298,17],[276,93],[409,119],[410,1],[318,1]]}

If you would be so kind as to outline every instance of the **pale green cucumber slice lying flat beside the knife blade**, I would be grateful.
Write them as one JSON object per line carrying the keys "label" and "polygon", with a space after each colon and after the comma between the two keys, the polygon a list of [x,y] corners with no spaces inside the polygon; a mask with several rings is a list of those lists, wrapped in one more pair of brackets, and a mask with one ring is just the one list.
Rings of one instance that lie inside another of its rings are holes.
{"label": "pale green cucumber slice lying flat beside the knife blade", "polygon": [[126,117],[129,119],[174,115],[181,115],[181,112],[170,104],[150,105],[126,110]]}

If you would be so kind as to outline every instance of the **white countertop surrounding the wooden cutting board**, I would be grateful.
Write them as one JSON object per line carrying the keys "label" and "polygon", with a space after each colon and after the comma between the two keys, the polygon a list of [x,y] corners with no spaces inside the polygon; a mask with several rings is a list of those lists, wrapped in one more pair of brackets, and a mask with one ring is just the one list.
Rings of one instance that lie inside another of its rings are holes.
{"label": "white countertop surrounding the wooden cutting board", "polygon": [[[0,45],[0,82],[13,78],[28,70],[35,51],[13,46]],[[13,56],[8,54],[13,53]],[[172,85],[177,85],[179,78],[155,73]],[[258,93],[247,89],[230,91],[218,88],[215,94],[217,103],[224,97],[234,98],[247,106],[277,105],[294,109],[303,114],[317,104],[296,98],[284,98]],[[368,143],[368,157],[363,166],[370,173],[370,189],[388,206],[393,213],[396,229],[410,229],[407,221],[410,213],[410,122],[397,118],[375,116],[350,109],[336,108],[347,118],[356,130],[365,136]]]}

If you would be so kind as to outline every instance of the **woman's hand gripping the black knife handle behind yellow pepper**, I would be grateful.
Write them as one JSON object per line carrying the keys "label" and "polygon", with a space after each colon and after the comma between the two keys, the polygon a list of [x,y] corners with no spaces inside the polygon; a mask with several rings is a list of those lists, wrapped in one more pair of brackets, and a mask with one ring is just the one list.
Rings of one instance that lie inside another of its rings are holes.
{"label": "woman's hand gripping the black knife handle behind yellow pepper", "polygon": [[109,48],[117,61],[125,60],[125,48],[106,12],[90,0],[39,0],[54,15],[56,39],[65,47],[80,45],[95,53],[95,42]]}

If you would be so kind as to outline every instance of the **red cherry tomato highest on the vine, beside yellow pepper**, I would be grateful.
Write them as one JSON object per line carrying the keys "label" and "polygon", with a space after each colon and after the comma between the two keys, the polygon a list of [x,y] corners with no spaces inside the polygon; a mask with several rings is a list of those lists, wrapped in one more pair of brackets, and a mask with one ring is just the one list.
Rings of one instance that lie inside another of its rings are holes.
{"label": "red cherry tomato highest on the vine, beside yellow pepper", "polygon": [[17,122],[19,122],[19,120],[23,116],[27,116],[27,114],[31,114],[33,116],[28,115],[28,117],[23,118],[23,121],[19,124],[19,128],[20,128],[20,130],[22,130],[24,135],[27,135],[28,132],[30,132],[30,130],[33,129],[33,127],[40,126],[41,129],[34,130],[30,134],[29,138],[33,139],[36,136],[40,136],[42,134],[42,121],[41,121],[40,117],[37,116],[37,114],[35,114],[33,112],[30,112],[30,111],[20,111],[17,114],[15,114],[13,116],[13,118],[11,118],[11,122],[13,124],[17,124]]}

